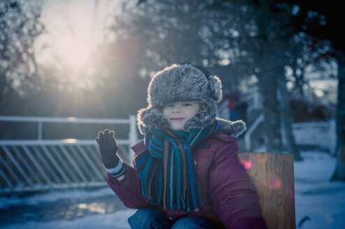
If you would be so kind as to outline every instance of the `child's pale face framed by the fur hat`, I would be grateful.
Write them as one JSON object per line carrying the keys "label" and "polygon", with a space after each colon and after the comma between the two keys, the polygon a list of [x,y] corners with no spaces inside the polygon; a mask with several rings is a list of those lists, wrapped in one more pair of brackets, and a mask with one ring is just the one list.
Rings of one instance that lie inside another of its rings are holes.
{"label": "child's pale face framed by the fur hat", "polygon": [[163,108],[163,115],[170,124],[170,128],[175,131],[181,131],[185,126],[185,122],[195,117],[195,114],[197,114],[199,110],[200,103],[198,102],[185,101],[168,103]]}

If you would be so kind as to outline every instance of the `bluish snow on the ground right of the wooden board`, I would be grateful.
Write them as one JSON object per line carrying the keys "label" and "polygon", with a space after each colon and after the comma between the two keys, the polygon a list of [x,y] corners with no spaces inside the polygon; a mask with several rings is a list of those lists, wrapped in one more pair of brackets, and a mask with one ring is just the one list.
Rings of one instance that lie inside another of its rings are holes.
{"label": "bluish snow on the ground right of the wooden board", "polygon": [[321,152],[304,152],[295,162],[296,226],[345,228],[345,182],[329,182],[337,159]]}

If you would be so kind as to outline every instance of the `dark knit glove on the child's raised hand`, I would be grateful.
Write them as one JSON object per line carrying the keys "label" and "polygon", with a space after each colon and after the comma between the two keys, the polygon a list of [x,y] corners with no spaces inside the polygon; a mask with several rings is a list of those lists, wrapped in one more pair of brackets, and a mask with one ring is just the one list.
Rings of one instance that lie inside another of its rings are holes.
{"label": "dark knit glove on the child's raised hand", "polygon": [[108,129],[99,131],[96,142],[99,146],[101,163],[103,163],[104,168],[115,168],[118,165],[120,158],[116,155],[116,152],[118,152],[118,144],[114,137],[114,131],[109,131]]}

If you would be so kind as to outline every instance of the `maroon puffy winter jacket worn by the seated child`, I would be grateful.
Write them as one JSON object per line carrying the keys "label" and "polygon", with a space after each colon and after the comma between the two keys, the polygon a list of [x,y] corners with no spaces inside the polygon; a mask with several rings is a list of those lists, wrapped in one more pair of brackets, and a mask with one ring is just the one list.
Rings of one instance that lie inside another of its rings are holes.
{"label": "maroon puffy winter jacket worn by the seated child", "polygon": [[[132,149],[135,154],[139,154],[146,147],[141,141]],[[150,205],[141,194],[138,172],[127,164],[125,179],[118,182],[108,174],[106,182],[125,206],[134,209],[155,207],[167,214],[167,221],[197,216],[229,229],[267,228],[261,214],[258,193],[237,160],[237,149],[237,138],[218,134],[192,150],[204,205],[191,212]]]}

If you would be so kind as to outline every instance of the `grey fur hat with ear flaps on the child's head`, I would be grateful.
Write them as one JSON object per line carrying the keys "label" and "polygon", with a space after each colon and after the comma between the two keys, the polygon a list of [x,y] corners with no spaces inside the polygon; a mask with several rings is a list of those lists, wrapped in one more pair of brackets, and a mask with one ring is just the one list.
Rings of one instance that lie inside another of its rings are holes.
{"label": "grey fur hat with ear flaps on the child's head", "polygon": [[137,115],[139,130],[145,134],[147,128],[169,128],[164,118],[164,105],[176,101],[200,101],[206,104],[206,110],[199,112],[188,121],[184,129],[204,128],[220,121],[223,131],[232,128],[234,136],[246,130],[243,121],[227,121],[216,118],[217,103],[222,99],[222,84],[216,75],[210,75],[206,69],[189,62],[173,64],[157,72],[148,85],[148,107],[139,110]]}

